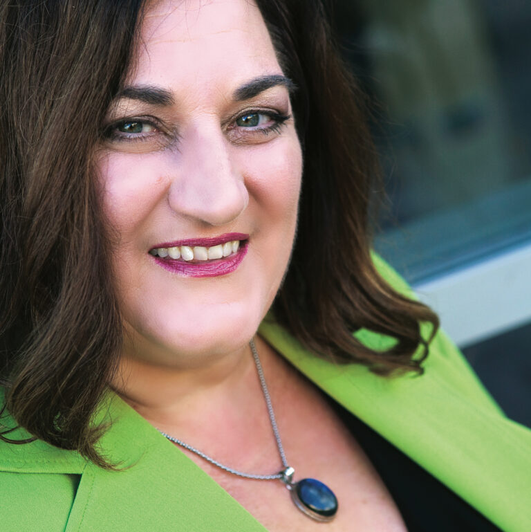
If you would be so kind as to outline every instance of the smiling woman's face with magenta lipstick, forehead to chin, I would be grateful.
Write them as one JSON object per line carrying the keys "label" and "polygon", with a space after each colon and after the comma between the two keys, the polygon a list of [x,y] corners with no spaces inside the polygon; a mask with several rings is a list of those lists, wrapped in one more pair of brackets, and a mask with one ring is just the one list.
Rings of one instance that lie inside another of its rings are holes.
{"label": "smiling woman's face with magenta lipstick, forehead to chin", "polygon": [[99,159],[124,355],[194,366],[242,349],[277,293],[301,149],[252,2],[158,2],[141,35]]}

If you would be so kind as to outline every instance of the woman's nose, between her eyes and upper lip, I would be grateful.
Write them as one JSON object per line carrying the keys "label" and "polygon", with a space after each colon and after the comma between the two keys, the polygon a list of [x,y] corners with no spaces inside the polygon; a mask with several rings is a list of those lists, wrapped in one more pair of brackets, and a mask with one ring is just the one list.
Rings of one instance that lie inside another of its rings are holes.
{"label": "woman's nose, between her eyes and upper lip", "polygon": [[243,175],[234,167],[232,150],[219,127],[187,131],[172,169],[170,208],[211,226],[237,219],[249,203],[249,194]]}

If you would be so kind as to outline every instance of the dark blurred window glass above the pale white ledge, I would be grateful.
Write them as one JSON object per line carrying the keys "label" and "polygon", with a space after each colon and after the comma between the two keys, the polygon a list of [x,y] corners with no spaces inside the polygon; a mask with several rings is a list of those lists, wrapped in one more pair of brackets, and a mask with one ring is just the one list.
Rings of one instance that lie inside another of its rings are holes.
{"label": "dark blurred window glass above the pale white ledge", "polygon": [[376,247],[411,281],[531,239],[531,3],[339,1],[391,199]]}

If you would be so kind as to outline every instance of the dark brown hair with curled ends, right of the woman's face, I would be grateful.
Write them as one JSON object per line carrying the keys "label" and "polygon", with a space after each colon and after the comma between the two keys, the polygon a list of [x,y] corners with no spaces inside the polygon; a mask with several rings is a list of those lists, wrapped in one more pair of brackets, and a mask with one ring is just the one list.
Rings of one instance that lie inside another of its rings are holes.
{"label": "dark brown hair with curled ends, right of the woman's face", "polygon": [[[382,188],[380,168],[366,98],[340,58],[324,0],[258,3],[279,61],[299,86],[292,104],[304,153],[299,231],[275,319],[321,356],[383,375],[422,374],[438,318],[394,291],[371,259],[369,203]],[[421,322],[431,324],[427,338]],[[396,341],[375,352],[353,336],[360,328]]]}

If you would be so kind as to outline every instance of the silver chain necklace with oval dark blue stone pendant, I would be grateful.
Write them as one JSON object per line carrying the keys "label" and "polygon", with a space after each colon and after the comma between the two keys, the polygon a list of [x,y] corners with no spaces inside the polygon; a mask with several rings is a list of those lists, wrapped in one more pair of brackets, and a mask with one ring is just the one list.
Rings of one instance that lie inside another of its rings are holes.
{"label": "silver chain necklace with oval dark blue stone pendant", "polygon": [[283,469],[279,471],[279,473],[274,473],[274,475],[255,475],[254,473],[244,473],[243,471],[239,471],[221,464],[221,462],[218,462],[212,457],[205,455],[204,452],[201,452],[200,450],[188,445],[188,443],[185,443],[178,438],[162,432],[162,430],[159,430],[159,432],[162,434],[162,436],[165,436],[170,441],[177,443],[178,446],[193,452],[195,455],[198,455],[199,457],[208,461],[213,466],[223,469],[223,471],[227,471],[227,473],[231,473],[232,475],[237,475],[245,479],[282,481],[283,484],[286,485],[286,488],[288,488],[290,491],[291,498],[295,506],[297,506],[302,513],[316,521],[331,521],[337,513],[338,506],[337,498],[335,497],[333,491],[330,490],[326,484],[323,484],[316,479],[301,479],[297,482],[293,481],[295,469],[288,465],[288,460],[286,459],[286,454],[284,453],[282,440],[279,434],[279,428],[277,427],[277,420],[274,417],[271,397],[269,394],[268,385],[265,383],[265,377],[263,376],[263,369],[258,356],[258,351],[253,340],[249,342],[249,345],[251,347],[252,357],[254,358],[254,364],[257,367],[263,397],[265,398],[265,405],[268,407],[271,428],[273,430],[274,439],[277,441],[277,448],[279,450],[280,459],[283,465]]}

